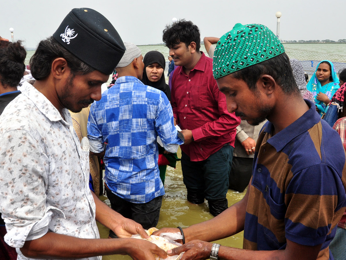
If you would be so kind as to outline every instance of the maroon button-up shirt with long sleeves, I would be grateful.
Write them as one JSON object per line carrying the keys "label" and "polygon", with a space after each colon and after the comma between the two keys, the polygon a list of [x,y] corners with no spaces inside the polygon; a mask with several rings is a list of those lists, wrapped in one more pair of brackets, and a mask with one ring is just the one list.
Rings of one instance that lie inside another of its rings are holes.
{"label": "maroon button-up shirt with long sleeves", "polygon": [[172,78],[173,115],[181,129],[192,130],[195,140],[180,148],[195,162],[207,159],[225,144],[234,147],[240,123],[239,117],[227,111],[226,96],[212,74],[212,62],[202,52],[189,76],[178,66]]}

